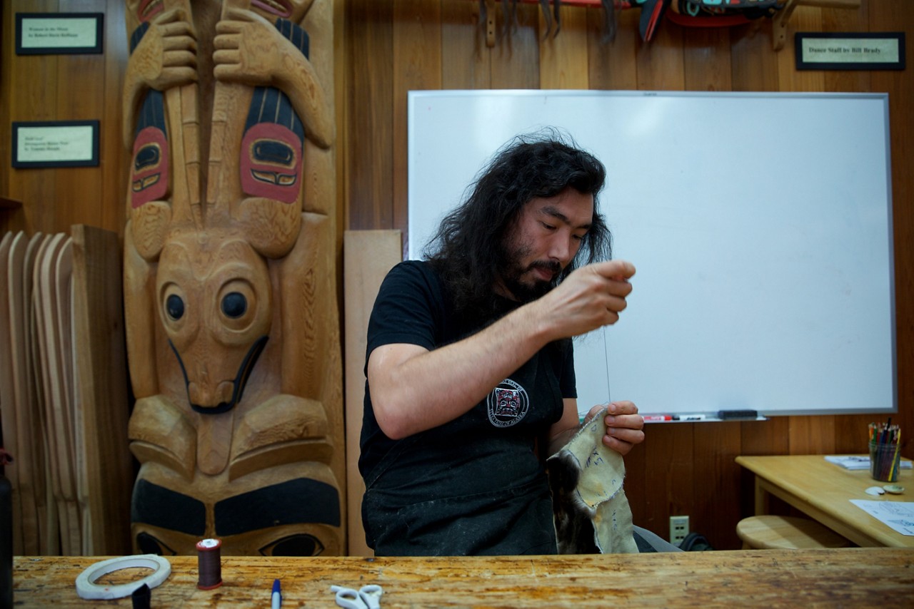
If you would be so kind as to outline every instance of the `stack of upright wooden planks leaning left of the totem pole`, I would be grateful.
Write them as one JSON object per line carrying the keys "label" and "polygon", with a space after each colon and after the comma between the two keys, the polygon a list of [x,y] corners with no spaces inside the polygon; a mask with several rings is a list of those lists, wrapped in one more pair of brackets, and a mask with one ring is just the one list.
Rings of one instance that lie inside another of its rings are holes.
{"label": "stack of upright wooden planks leaning left of the totem pole", "polygon": [[133,461],[117,235],[0,240],[0,434],[14,553],[130,552]]}

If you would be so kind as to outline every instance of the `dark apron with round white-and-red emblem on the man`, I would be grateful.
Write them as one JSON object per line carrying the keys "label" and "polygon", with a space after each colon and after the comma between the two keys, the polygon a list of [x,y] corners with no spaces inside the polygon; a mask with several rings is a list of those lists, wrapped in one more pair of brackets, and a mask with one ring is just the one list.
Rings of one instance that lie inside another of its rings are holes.
{"label": "dark apron with round white-and-red emblem on the man", "polygon": [[554,346],[473,410],[394,444],[367,472],[362,515],[378,556],[557,552],[537,436],[561,416]]}

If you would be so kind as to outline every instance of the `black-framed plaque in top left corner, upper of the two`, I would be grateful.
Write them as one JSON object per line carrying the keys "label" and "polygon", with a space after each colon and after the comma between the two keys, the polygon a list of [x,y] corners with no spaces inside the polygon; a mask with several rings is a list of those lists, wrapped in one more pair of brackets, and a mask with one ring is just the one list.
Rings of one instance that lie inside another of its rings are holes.
{"label": "black-framed plaque in top left corner, upper of the two", "polygon": [[16,55],[101,53],[103,13],[16,13]]}

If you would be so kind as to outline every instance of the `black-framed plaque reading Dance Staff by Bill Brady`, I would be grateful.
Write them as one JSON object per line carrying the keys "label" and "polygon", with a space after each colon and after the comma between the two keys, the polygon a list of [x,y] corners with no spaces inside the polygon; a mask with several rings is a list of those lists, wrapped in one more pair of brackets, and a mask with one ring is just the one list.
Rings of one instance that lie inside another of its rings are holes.
{"label": "black-framed plaque reading Dance Staff by Bill Brady", "polygon": [[905,33],[797,32],[797,69],[904,69]]}

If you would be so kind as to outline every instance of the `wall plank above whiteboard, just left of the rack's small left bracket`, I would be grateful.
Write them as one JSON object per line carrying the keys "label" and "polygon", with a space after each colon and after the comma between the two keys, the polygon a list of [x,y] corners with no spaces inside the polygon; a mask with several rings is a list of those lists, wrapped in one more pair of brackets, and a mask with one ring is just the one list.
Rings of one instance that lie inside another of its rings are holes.
{"label": "wall plank above whiteboard, just left of the rack's small left bracket", "polygon": [[441,89],[489,89],[492,58],[476,2],[441,2]]}

